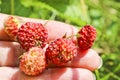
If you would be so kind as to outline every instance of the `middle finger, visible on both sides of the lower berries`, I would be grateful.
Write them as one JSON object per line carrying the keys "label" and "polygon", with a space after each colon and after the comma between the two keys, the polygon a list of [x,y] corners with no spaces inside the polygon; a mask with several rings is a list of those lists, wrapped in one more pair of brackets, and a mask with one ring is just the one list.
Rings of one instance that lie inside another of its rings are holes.
{"label": "middle finger, visible on both sides of the lower berries", "polygon": [[[0,41],[0,66],[16,66],[18,57],[21,54],[20,45],[16,42],[3,42]],[[89,70],[97,69],[101,64],[99,55],[92,49],[79,52],[72,62],[65,66],[81,67]]]}

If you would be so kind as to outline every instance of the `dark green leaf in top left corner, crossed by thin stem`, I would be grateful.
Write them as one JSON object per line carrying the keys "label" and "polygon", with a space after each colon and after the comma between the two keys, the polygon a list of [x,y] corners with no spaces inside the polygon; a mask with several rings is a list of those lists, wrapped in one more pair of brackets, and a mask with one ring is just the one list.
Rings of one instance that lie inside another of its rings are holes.
{"label": "dark green leaf in top left corner, crossed by thin stem", "polygon": [[2,4],[0,5],[0,7],[2,13],[7,13],[7,14],[14,13],[14,15],[19,15],[19,16],[28,16],[30,13],[30,8],[24,7],[19,0],[14,0],[13,3],[14,12],[12,12],[11,0],[1,0],[1,2]]}

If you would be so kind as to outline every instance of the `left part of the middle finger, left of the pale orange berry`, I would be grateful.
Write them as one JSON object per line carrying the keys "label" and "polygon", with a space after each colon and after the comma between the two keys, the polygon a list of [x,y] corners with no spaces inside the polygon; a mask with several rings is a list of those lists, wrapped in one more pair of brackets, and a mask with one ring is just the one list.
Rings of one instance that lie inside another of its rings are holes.
{"label": "left part of the middle finger, left of the pale orange berry", "polygon": [[0,41],[0,66],[17,66],[20,51],[17,42]]}

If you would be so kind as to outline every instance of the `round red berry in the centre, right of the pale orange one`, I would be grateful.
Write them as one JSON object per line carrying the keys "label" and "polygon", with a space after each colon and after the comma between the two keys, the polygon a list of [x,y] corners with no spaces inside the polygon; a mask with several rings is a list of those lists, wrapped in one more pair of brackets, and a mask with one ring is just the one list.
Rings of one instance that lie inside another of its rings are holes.
{"label": "round red berry in the centre, right of the pale orange one", "polygon": [[52,62],[57,66],[64,65],[71,61],[77,54],[77,47],[72,40],[58,38],[51,42],[46,49],[47,63]]}

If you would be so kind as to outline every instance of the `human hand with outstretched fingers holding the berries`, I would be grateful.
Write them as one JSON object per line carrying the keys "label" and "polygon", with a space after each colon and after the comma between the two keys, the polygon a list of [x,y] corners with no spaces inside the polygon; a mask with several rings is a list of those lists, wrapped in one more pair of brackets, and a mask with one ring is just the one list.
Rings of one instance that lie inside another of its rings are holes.
{"label": "human hand with outstretched fingers holding the berries", "polygon": [[[91,71],[101,66],[101,58],[93,50],[79,51],[72,62],[64,67],[53,67],[46,69],[38,76],[27,76],[18,68],[18,57],[20,45],[13,42],[3,30],[4,19],[8,16],[0,14],[0,78],[2,80],[95,80]],[[45,20],[20,17],[25,21],[40,22]],[[46,26],[49,34],[49,41],[62,37],[66,32],[67,36],[77,33],[77,29],[58,21],[49,21]]]}

